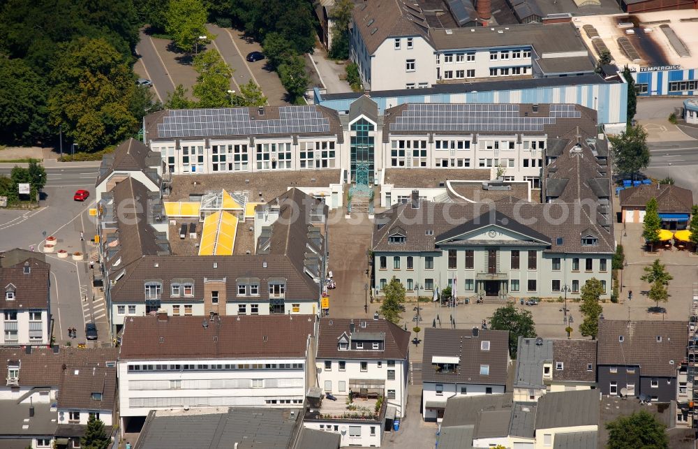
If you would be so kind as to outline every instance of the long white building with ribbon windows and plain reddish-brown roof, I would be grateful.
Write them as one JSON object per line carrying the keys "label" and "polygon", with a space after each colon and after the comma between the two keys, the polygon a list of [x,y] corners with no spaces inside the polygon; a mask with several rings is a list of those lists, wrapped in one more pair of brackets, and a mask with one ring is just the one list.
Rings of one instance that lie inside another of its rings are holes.
{"label": "long white building with ribbon windows and plain reddish-brown roof", "polygon": [[129,317],[117,367],[121,429],[153,410],[301,407],[315,327],[313,315]]}

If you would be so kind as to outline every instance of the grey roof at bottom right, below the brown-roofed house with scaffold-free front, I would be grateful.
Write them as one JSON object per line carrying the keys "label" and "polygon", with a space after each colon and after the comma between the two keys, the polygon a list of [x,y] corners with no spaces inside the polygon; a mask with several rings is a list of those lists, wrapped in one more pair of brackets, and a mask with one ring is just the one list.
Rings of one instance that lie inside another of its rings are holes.
{"label": "grey roof at bottom right, below the brown-roofed house with scaffold-free front", "polygon": [[598,425],[599,390],[551,392],[538,399],[535,429]]}

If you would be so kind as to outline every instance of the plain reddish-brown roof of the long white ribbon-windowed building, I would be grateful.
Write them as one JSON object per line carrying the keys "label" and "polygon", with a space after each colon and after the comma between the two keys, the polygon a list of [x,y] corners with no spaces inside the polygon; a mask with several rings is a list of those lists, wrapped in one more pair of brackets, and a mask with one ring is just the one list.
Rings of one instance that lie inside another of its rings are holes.
{"label": "plain reddish-brown roof of the long white ribbon-windowed building", "polygon": [[128,318],[119,359],[302,358],[308,336],[315,333],[313,315],[220,316],[214,321],[200,316],[161,319]]}

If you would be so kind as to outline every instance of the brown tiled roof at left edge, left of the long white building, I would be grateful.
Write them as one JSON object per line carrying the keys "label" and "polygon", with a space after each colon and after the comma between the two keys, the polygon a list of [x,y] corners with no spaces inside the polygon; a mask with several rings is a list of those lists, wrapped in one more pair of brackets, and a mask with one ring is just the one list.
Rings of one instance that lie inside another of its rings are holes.
{"label": "brown tiled roof at left edge, left of the long white building", "polygon": [[65,368],[104,367],[105,362],[115,362],[118,348],[53,348],[34,347],[31,353],[24,348],[0,348],[0,372],[7,373],[8,364],[20,362],[21,387],[59,386]]}

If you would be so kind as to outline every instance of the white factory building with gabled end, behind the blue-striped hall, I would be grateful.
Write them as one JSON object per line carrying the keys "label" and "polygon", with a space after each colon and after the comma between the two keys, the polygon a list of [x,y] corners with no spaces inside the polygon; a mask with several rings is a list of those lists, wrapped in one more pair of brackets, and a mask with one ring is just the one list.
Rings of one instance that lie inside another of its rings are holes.
{"label": "white factory building with gabled end, behind the blue-striped hall", "polygon": [[352,16],[350,59],[359,66],[364,87],[372,90],[594,71],[591,54],[571,22],[433,28],[417,4],[403,0],[364,2]]}

